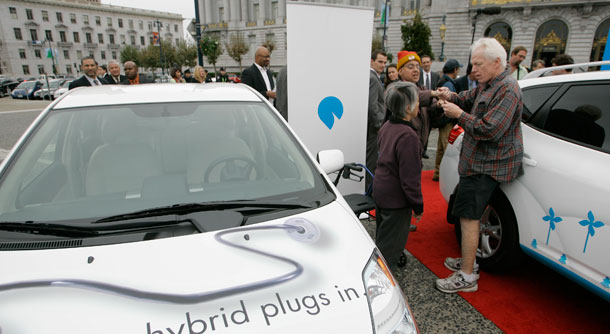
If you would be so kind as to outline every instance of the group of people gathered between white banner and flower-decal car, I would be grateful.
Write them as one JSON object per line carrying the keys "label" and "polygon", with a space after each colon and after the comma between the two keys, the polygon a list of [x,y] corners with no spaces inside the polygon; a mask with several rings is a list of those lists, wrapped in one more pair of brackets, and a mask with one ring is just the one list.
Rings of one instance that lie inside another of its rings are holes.
{"label": "group of people gathered between white banner and flower-decal car", "polygon": [[[369,81],[366,165],[374,174],[370,182],[376,204],[376,244],[391,270],[404,266],[412,216],[424,214],[421,191],[422,159],[430,130],[438,129],[434,174],[439,167],[455,125],[464,129],[452,214],[460,219],[461,257],[446,258],[445,267],[454,271],[436,281],[446,293],[477,291],[479,279],[476,251],[481,216],[493,192],[502,182],[523,173],[521,90],[517,80],[544,68],[542,60],[523,66],[524,47],[507,56],[493,38],[482,38],[471,47],[466,75],[463,65],[448,59],[442,73],[431,71],[428,55],[403,50],[396,64],[386,65],[387,55],[371,55]],[[573,64],[569,55],[558,55],[553,66]],[[570,69],[552,74],[570,73]]]}

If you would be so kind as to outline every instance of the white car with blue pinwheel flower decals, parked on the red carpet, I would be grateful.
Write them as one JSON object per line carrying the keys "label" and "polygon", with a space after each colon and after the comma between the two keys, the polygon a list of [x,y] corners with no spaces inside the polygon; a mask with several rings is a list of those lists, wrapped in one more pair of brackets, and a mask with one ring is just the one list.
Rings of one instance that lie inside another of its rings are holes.
{"label": "white car with blue pinwheel flower decals, parked on the red carpet", "polygon": [[[525,173],[493,194],[481,219],[477,262],[503,269],[523,251],[610,301],[610,71],[530,74],[519,81]],[[450,142],[453,137],[439,184],[459,242],[451,209],[463,134],[452,133]]]}

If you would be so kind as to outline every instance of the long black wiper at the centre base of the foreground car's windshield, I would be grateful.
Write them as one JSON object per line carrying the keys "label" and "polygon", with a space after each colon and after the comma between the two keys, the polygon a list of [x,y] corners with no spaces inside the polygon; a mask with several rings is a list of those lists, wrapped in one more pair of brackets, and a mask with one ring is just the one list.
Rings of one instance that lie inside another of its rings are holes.
{"label": "long black wiper at the centre base of the foreground car's windshield", "polygon": [[291,209],[311,209],[312,206],[300,203],[285,203],[285,202],[262,202],[257,200],[239,200],[239,201],[222,201],[222,202],[205,202],[205,203],[183,203],[168,206],[162,206],[142,211],[136,211],[116,216],[102,218],[92,222],[92,224],[108,223],[119,220],[138,219],[155,217],[159,215],[175,214],[185,215],[193,212],[213,211],[213,210],[252,210],[259,209],[261,211],[276,211],[276,210],[291,210]]}

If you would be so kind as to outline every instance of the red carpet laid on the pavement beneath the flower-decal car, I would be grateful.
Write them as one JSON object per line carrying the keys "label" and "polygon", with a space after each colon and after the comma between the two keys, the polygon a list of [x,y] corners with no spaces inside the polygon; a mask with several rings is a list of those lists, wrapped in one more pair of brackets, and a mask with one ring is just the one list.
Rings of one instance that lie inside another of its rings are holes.
{"label": "red carpet laid on the pavement beneath the flower-decal car", "polygon": [[[460,256],[460,249],[432,171],[422,173],[422,188],[424,216],[406,248],[438,277],[446,277],[451,271],[443,261]],[[481,272],[479,291],[460,295],[508,334],[610,333],[609,303],[527,256],[510,272]]]}

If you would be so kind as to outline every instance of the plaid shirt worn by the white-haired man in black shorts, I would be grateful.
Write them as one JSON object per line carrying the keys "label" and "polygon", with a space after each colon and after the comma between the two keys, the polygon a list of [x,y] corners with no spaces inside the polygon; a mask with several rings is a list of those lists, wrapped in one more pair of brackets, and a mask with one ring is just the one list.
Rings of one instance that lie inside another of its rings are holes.
{"label": "plaid shirt worn by the white-haired man in black shorts", "polygon": [[523,174],[523,102],[517,80],[509,71],[475,89],[453,95],[451,100],[466,111],[458,119],[464,128],[460,176],[485,174],[507,182]]}

